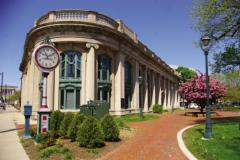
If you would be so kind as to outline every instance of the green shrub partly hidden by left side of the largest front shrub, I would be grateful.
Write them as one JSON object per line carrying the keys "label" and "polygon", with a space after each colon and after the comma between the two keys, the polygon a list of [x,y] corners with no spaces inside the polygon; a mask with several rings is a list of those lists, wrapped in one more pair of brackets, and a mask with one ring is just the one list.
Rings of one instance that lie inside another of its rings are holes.
{"label": "green shrub partly hidden by left side of the largest front shrub", "polygon": [[72,141],[75,141],[77,138],[77,130],[80,124],[82,124],[82,122],[85,119],[85,115],[78,112],[77,114],[75,114],[69,128],[68,128],[68,132],[67,132],[67,136],[68,138],[70,138]]}

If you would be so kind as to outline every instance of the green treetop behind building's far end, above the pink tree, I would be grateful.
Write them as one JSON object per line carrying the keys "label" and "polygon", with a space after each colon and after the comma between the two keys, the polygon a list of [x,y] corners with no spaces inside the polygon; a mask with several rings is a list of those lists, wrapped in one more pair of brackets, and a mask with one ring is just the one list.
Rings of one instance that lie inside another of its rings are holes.
{"label": "green treetop behind building's far end, above the pink tree", "polygon": [[186,82],[187,80],[191,79],[192,77],[194,77],[196,75],[196,72],[194,72],[193,70],[187,68],[187,67],[183,67],[183,66],[179,66],[176,71],[178,73],[180,73],[181,75],[181,82]]}

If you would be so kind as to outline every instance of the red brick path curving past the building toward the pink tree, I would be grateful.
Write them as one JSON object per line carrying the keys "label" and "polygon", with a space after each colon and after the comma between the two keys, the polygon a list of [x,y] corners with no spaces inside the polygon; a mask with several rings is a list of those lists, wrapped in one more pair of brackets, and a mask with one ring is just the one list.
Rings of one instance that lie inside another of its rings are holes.
{"label": "red brick path curving past the building toward the pink tree", "polygon": [[[101,160],[186,160],[177,144],[177,132],[205,117],[184,116],[184,112],[162,115],[159,119],[131,123],[137,129],[134,138],[103,156]],[[239,113],[217,112],[214,118],[240,117]]]}

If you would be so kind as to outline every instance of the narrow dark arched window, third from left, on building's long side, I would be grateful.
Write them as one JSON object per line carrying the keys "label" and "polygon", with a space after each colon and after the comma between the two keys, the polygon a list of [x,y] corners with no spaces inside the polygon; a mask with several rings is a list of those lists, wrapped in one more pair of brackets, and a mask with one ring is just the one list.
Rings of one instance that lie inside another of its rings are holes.
{"label": "narrow dark arched window, third from left, on building's long side", "polygon": [[132,100],[132,66],[129,62],[125,62],[124,65],[125,76],[125,108],[131,107]]}

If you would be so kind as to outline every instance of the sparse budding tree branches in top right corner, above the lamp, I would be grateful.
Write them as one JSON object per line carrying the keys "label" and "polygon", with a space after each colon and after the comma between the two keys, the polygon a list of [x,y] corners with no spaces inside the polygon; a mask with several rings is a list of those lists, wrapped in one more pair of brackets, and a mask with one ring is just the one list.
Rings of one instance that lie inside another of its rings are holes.
{"label": "sparse budding tree branches in top right corner, above the lamp", "polygon": [[239,0],[196,0],[192,17],[195,28],[216,41],[239,40]]}

